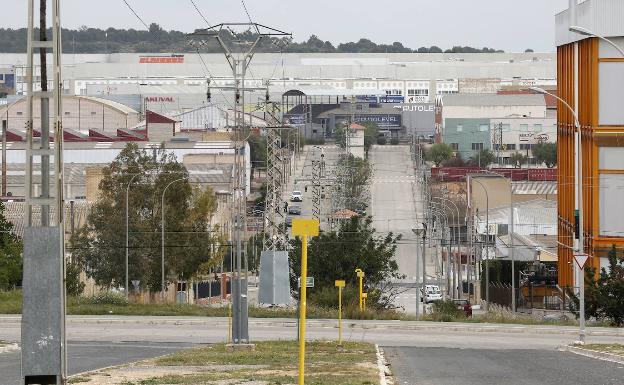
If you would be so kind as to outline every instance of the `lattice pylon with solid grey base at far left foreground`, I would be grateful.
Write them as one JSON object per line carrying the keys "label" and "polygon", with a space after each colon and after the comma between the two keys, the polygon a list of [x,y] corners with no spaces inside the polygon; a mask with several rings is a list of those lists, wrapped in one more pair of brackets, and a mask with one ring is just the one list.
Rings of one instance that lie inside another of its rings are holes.
{"label": "lattice pylon with solid grey base at far left foreground", "polygon": [[[60,0],[52,0],[51,4],[52,39],[47,37],[46,0],[39,2],[40,32],[39,38],[35,39],[35,0],[28,0],[26,229],[21,365],[24,385],[60,385],[65,384],[67,378]],[[33,83],[37,50],[41,64],[41,91],[35,91]],[[52,90],[48,87],[48,53],[53,58]],[[36,142],[33,118],[35,97],[41,100],[41,139]],[[50,115],[54,122],[53,149],[50,148]],[[54,158],[53,180],[50,180],[50,157]],[[34,163],[37,159],[41,170],[40,181],[34,179]],[[41,183],[40,196],[33,194],[33,185],[37,182]],[[51,196],[51,190],[55,192],[54,196]],[[50,206],[54,206],[56,211],[54,221],[51,220]],[[40,208],[37,210],[41,213],[39,221],[33,216],[34,207]],[[45,343],[42,343],[42,336],[46,338]]]}

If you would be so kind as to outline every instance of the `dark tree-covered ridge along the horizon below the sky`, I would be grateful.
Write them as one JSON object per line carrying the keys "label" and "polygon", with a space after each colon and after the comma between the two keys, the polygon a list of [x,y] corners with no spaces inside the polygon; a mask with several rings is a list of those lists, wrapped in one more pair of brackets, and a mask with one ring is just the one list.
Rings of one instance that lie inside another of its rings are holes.
{"label": "dark tree-covered ridge along the horizon below the sky", "polygon": [[[63,52],[65,53],[107,53],[107,52],[192,52],[186,34],[179,31],[165,31],[158,24],[152,23],[149,31],[135,29],[80,27],[77,30],[63,29]],[[229,31],[222,31],[221,37],[226,40],[235,38],[252,40],[252,33],[233,36]],[[208,41],[202,52],[221,52],[216,40]],[[26,52],[26,28],[0,28],[0,52]],[[258,47],[258,52],[279,52],[279,49],[267,39]],[[412,49],[400,42],[392,44],[376,44],[362,38],[357,42],[341,43],[335,46],[330,41],[323,41],[312,35],[307,41],[291,42],[283,52],[337,52],[337,53],[493,53],[504,52],[493,48],[474,48],[455,46],[450,49],[420,47]]]}

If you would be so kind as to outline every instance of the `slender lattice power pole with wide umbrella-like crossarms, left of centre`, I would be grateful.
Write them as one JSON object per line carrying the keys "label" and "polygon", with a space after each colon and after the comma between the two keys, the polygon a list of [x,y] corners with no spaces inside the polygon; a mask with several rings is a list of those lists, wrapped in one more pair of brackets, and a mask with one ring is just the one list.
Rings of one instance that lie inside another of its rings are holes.
{"label": "slender lattice power pole with wide umbrella-like crossarms, left of centre", "polygon": [[[249,48],[242,52],[233,52],[233,45],[245,45],[247,42],[238,40],[236,33],[232,28],[244,27],[249,29],[255,36]],[[231,34],[234,38],[231,42],[227,42],[222,38],[223,35]],[[244,100],[242,92],[245,87],[245,75],[251,60],[255,54],[256,48],[260,41],[265,38],[275,38],[291,36],[290,34],[279,31],[277,29],[265,27],[257,23],[221,23],[207,29],[195,32],[189,35],[193,38],[199,38],[199,44],[205,45],[206,38],[216,39],[225,58],[232,69],[234,77],[234,129],[236,130],[235,160],[234,160],[234,212],[232,223],[235,226],[235,242],[236,242],[236,279],[232,285],[232,302],[233,302],[233,322],[232,322],[232,339],[235,344],[241,344],[243,341],[249,342],[249,324],[248,324],[248,303],[247,303],[247,280],[242,276],[242,228],[246,223],[246,206],[247,206],[247,178],[246,163],[244,161],[247,154],[243,154],[247,138],[241,137],[241,131],[244,125]],[[191,44],[194,44],[191,41]],[[245,294],[243,294],[245,293]]]}

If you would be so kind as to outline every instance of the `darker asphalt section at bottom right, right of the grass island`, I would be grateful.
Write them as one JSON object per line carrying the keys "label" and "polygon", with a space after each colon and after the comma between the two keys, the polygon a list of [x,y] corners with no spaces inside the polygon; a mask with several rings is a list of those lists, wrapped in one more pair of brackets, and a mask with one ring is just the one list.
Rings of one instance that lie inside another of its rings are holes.
{"label": "darker asphalt section at bottom right, right of the grass island", "polygon": [[398,385],[624,383],[624,365],[554,350],[384,348]]}

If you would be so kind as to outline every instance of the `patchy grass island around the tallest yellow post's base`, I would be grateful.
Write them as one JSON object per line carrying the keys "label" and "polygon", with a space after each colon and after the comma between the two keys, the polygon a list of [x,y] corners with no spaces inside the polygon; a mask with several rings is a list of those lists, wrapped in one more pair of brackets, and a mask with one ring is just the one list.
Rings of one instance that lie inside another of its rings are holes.
{"label": "patchy grass island around the tallest yellow post's base", "polygon": [[[210,366],[195,375],[169,375],[141,385],[211,384],[216,381],[267,381],[293,384],[298,374],[295,341],[259,342],[253,351],[229,351],[224,344],[188,349],[155,359],[158,366]],[[372,344],[349,342],[338,350],[332,342],[306,344],[306,384],[372,385],[378,381],[376,352]]]}

